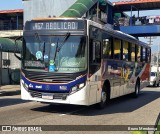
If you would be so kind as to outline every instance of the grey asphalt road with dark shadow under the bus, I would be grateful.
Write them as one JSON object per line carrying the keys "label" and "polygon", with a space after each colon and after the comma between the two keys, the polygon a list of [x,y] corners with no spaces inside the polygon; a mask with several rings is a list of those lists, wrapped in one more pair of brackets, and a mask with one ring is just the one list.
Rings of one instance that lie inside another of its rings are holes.
{"label": "grey asphalt road with dark shadow under the bus", "polygon": [[[127,95],[113,99],[102,110],[94,106],[49,105],[22,101],[20,95],[3,96],[0,97],[0,125],[155,125],[160,113],[159,104],[160,88],[157,87],[143,89],[138,98]],[[87,133],[97,134],[96,131]],[[108,133],[130,132],[107,131]]]}

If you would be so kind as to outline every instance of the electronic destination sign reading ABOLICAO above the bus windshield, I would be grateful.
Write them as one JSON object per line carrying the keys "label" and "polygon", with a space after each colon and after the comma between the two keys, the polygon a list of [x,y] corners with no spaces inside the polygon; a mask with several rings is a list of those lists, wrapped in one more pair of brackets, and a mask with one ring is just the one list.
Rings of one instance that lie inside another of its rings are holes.
{"label": "electronic destination sign reading ABOLICAO above the bus windshield", "polygon": [[[30,25],[30,26],[29,26]],[[29,28],[29,29],[28,29]],[[26,30],[83,30],[84,21],[41,21],[28,22]]]}

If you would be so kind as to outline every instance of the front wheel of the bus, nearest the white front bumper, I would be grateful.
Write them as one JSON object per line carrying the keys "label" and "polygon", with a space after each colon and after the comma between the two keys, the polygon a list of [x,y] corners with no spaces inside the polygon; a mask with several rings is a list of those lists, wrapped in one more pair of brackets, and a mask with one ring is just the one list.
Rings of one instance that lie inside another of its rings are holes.
{"label": "front wheel of the bus, nearest the white front bumper", "polygon": [[97,103],[98,109],[105,108],[107,102],[109,101],[109,96],[110,96],[109,88],[106,85],[104,85],[102,92],[101,92],[101,101]]}

